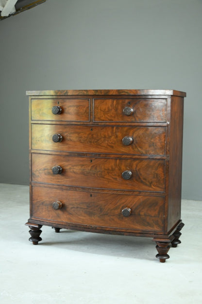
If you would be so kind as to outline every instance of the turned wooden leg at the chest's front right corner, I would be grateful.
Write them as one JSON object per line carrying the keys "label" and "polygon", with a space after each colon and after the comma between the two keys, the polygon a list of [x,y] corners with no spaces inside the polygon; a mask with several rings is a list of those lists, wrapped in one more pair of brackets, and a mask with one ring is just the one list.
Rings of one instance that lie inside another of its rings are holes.
{"label": "turned wooden leg at the chest's front right corner", "polygon": [[156,242],[156,249],[158,254],[156,258],[159,259],[161,263],[165,263],[169,259],[168,250],[170,248],[169,244],[173,240],[174,236],[171,235],[168,239],[157,239],[154,238],[152,241]]}

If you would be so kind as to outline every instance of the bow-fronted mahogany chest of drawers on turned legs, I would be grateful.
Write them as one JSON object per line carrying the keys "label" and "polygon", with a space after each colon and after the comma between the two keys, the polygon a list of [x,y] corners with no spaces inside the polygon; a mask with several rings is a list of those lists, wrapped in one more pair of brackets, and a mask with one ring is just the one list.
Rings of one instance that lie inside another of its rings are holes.
{"label": "bow-fronted mahogany chest of drawers on turned legs", "polygon": [[180,244],[184,92],[28,91],[30,241],[43,225]]}

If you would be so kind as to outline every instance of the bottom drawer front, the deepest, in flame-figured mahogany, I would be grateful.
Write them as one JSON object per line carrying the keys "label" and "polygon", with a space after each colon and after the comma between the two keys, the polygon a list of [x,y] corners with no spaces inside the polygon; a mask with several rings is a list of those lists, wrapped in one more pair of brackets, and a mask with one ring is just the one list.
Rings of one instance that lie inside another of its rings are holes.
{"label": "bottom drawer front, the deepest, in flame-figured mahogany", "polygon": [[[32,217],[104,228],[163,230],[164,197],[33,187]],[[54,202],[62,203],[55,210]],[[128,217],[123,209],[130,209]]]}

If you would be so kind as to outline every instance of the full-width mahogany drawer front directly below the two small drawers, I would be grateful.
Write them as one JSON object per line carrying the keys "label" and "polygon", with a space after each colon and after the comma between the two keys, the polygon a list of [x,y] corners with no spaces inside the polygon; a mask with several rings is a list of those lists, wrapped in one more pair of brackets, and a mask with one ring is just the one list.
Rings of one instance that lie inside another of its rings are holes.
{"label": "full-width mahogany drawer front directly below the two small drawers", "polygon": [[[54,142],[52,136],[62,136]],[[165,155],[166,127],[102,127],[32,124],[32,149]]]}

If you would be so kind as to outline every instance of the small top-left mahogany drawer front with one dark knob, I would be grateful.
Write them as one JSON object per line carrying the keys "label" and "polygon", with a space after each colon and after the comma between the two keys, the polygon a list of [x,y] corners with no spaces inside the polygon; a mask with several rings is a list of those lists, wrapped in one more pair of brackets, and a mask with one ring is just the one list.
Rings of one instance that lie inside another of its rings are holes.
{"label": "small top-left mahogany drawer front with one dark knob", "polygon": [[90,100],[76,98],[32,99],[31,119],[52,121],[90,121]]}

